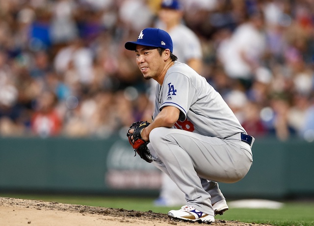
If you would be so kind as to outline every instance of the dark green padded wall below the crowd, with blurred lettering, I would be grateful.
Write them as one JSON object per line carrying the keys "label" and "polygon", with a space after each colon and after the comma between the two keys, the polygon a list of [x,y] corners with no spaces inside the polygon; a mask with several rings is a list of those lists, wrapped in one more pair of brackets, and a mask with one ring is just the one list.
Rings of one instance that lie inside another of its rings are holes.
{"label": "dark green padded wall below the crowd, with blurred lettering", "polygon": [[[226,197],[314,197],[314,143],[256,139],[247,176]],[[160,172],[128,140],[0,138],[0,192],[157,196]]]}

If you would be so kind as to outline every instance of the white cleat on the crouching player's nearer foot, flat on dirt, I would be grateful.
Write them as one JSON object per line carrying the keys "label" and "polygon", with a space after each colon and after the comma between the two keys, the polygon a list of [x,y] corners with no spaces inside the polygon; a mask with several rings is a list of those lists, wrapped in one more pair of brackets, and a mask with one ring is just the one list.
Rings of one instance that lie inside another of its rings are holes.
{"label": "white cleat on the crouching player's nearer foot, flat on dirt", "polygon": [[186,222],[198,222],[210,224],[215,222],[214,216],[198,211],[192,206],[183,205],[179,210],[170,210],[168,217],[181,219]]}

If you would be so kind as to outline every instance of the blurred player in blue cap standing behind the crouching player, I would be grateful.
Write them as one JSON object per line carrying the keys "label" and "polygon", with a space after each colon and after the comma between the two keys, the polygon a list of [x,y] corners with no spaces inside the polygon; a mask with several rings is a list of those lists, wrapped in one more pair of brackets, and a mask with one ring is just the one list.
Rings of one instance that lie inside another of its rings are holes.
{"label": "blurred player in blue cap standing behind the crouching player", "polygon": [[[183,8],[177,0],[164,0],[158,12],[156,27],[167,31],[173,42],[173,54],[178,61],[188,64],[196,72],[202,70],[201,43],[196,34],[182,24]],[[150,79],[152,87],[151,101],[155,101],[155,87],[157,82]],[[155,201],[158,206],[175,206],[185,204],[185,195],[178,186],[162,173],[162,186],[159,198]]]}

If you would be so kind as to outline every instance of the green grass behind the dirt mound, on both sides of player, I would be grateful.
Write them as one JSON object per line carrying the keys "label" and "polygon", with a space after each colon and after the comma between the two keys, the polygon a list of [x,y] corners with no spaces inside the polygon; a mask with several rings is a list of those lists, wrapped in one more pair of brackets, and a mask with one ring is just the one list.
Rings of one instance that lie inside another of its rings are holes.
{"label": "green grass behind the dirt mound, on both sides of player", "polygon": [[[102,206],[111,208],[124,208],[127,210],[149,211],[167,213],[169,207],[153,205],[154,198],[126,198],[103,196],[47,196],[47,195],[17,195],[0,194],[1,197],[20,199],[56,201],[61,203],[81,204],[89,206]],[[171,209],[180,208],[180,206]],[[274,226],[314,226],[314,201],[312,202],[285,202],[280,209],[247,209],[231,208],[224,215],[216,219],[239,221],[256,224],[270,224]]]}

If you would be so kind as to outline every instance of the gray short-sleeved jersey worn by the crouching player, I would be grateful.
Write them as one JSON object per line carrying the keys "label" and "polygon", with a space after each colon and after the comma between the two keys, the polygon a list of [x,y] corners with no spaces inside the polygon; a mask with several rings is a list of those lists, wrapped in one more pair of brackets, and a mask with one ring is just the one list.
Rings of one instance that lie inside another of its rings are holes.
{"label": "gray short-sleeved jersey worn by the crouching player", "polygon": [[180,109],[180,118],[175,124],[177,128],[219,138],[246,133],[207,80],[177,61],[167,71],[162,86],[157,84],[154,118],[165,106]]}

